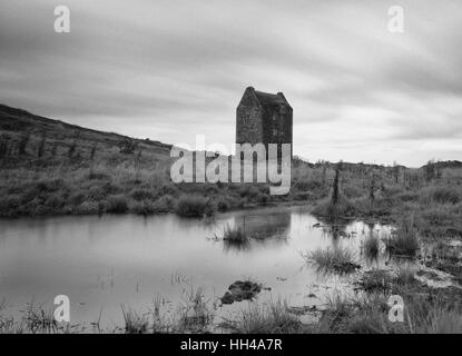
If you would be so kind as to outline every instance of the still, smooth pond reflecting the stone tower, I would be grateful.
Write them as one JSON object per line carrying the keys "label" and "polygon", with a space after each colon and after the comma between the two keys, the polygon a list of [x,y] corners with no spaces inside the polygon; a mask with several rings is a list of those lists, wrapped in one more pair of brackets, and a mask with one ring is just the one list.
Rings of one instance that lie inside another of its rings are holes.
{"label": "still, smooth pond reflecting the stone tower", "polygon": [[[226,226],[240,226],[249,243],[224,241]],[[345,279],[318,273],[302,254],[344,246],[361,259],[364,238],[389,229],[361,221],[326,225],[308,207],[233,211],[213,219],[105,215],[0,220],[0,298],[14,315],[28,303],[51,307],[55,296],[67,295],[71,324],[89,327],[100,315],[105,329],[124,324],[121,306],[142,313],[160,298],[174,309],[188,288],[198,287],[219,316],[232,316],[247,301],[219,306],[219,297],[239,279],[267,287],[258,301],[281,297],[291,306],[316,305]]]}

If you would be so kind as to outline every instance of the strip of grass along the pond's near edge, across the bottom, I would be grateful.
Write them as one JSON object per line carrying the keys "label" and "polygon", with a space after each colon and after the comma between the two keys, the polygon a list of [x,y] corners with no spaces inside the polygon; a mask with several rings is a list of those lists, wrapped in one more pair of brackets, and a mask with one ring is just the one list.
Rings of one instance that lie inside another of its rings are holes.
{"label": "strip of grass along the pond's near edge, across the bottom", "polygon": [[[144,310],[121,306],[124,324],[101,328],[98,316],[86,326],[59,324],[51,310],[28,306],[19,319],[0,314],[0,334],[61,333],[238,333],[238,334],[453,334],[462,333],[462,297],[459,288],[431,288],[422,285],[410,271],[371,270],[357,281],[362,291],[354,298],[334,295],[327,309],[315,312],[321,317],[302,323],[297,309],[285,299],[267,304],[250,303],[234,319],[216,323],[216,306],[200,288],[191,289],[189,298],[175,315],[163,313],[160,299]],[[404,300],[404,320],[389,319],[389,296]],[[2,312],[2,310],[0,310]]]}

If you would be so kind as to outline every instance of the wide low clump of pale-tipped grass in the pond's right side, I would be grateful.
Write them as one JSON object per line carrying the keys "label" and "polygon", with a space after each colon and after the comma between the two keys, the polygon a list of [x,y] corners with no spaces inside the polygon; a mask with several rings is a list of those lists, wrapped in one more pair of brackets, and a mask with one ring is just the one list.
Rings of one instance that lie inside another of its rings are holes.
{"label": "wide low clump of pale-tipped grass in the pond's right side", "polygon": [[302,257],[308,263],[314,263],[317,269],[322,271],[350,274],[360,268],[355,254],[344,247],[318,248],[302,255]]}

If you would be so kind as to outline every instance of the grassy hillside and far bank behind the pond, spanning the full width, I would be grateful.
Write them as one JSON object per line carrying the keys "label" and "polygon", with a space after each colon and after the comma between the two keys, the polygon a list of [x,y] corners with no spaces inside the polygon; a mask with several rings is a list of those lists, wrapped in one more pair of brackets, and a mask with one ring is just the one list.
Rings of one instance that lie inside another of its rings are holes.
{"label": "grassy hillside and far bank behind the pond, spanning the full width", "polygon": [[[173,184],[170,145],[101,132],[0,106],[0,216],[177,212],[203,216],[256,205],[313,204],[320,215],[393,219],[432,187],[461,188],[462,164],[309,164],[294,158],[292,188],[266,184]],[[336,187],[335,187],[336,185]],[[337,191],[343,207],[332,209]],[[347,204],[346,204],[347,201]],[[346,204],[346,205],[345,205]],[[345,207],[350,207],[345,209]]]}

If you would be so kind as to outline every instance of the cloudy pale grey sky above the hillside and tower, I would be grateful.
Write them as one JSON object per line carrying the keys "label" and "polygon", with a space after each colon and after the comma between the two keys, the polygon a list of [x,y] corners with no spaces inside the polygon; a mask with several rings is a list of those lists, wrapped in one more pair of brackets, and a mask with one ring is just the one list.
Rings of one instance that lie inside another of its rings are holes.
{"label": "cloudy pale grey sky above the hillside and tower", "polygon": [[[58,4],[70,33],[53,31]],[[404,33],[387,29],[395,4]],[[0,102],[230,146],[253,86],[284,92],[311,161],[462,160],[461,36],[459,0],[1,0]]]}

